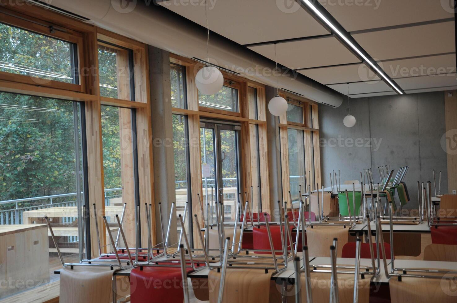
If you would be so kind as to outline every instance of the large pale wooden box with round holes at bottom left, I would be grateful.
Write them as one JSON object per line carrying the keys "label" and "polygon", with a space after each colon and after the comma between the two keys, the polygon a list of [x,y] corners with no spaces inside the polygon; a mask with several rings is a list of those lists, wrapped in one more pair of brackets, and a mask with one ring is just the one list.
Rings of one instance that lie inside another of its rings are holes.
{"label": "large pale wooden box with round holes at bottom left", "polygon": [[47,225],[0,225],[0,298],[49,282]]}

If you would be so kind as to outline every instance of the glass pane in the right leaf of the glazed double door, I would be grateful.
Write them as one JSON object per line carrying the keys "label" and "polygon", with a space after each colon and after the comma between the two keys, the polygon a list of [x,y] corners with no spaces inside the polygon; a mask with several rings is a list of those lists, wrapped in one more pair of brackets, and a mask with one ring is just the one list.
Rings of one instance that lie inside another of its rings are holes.
{"label": "glass pane in the right leaf of the glazed double door", "polygon": [[[224,220],[231,221],[238,202],[238,161],[235,131],[221,130]],[[249,194],[249,193],[248,193]],[[249,201],[251,198],[249,197]]]}

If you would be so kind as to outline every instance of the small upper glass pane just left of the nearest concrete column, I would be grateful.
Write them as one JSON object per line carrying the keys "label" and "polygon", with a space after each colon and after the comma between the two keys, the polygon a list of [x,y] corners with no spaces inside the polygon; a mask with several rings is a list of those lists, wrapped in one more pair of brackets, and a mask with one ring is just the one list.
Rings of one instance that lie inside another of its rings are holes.
{"label": "small upper glass pane just left of the nearest concrete column", "polygon": [[130,94],[129,50],[106,44],[98,45],[98,74],[102,97],[133,100]]}

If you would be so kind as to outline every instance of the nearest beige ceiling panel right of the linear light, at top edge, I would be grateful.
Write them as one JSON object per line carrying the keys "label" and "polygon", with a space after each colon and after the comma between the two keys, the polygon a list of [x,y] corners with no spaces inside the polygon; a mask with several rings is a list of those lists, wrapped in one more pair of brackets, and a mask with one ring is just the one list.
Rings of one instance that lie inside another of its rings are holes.
{"label": "nearest beige ceiling panel right of the linear light, at top edge", "polygon": [[319,0],[346,31],[452,18],[447,0]]}

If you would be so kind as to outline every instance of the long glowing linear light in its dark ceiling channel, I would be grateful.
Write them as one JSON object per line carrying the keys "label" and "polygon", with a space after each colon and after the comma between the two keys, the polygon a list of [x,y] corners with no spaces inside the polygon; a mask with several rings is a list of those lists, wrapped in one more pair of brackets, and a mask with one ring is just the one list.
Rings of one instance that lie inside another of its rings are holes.
{"label": "long glowing linear light in its dark ceiling channel", "polygon": [[[383,72],[381,69],[377,66],[377,64],[374,64],[372,60],[370,60],[358,47],[356,47],[351,40],[346,37],[329,19],[327,19],[314,5],[313,2],[310,0],[296,0],[298,4],[304,3],[310,10],[312,10],[315,14],[315,16],[319,17],[321,21],[323,21],[327,26],[329,26],[335,34],[337,34],[341,39],[343,39],[346,44],[351,47],[352,50],[354,50],[356,53],[359,54],[361,58],[365,62],[367,62],[381,77],[383,77],[384,80],[390,84],[391,87],[393,87],[399,94],[404,94],[401,89],[397,85],[393,83],[393,81]],[[316,1],[316,0],[313,0]],[[301,3],[300,3],[301,2]]]}

